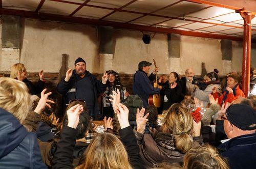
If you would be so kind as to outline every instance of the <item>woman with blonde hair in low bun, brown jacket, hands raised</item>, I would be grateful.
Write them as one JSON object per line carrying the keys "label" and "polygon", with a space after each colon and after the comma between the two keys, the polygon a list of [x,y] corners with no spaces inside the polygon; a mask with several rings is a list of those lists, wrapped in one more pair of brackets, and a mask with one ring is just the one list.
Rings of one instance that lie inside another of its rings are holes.
{"label": "woman with blonde hair in low bun, brown jacket, hands raised", "polygon": [[136,137],[141,158],[145,165],[149,167],[163,161],[169,163],[182,162],[185,153],[191,147],[202,143],[202,136],[200,136],[201,122],[196,123],[189,110],[180,103],[173,104],[167,110],[163,125],[155,138],[151,134],[143,134],[145,121],[140,119],[140,117],[137,117],[136,120]]}

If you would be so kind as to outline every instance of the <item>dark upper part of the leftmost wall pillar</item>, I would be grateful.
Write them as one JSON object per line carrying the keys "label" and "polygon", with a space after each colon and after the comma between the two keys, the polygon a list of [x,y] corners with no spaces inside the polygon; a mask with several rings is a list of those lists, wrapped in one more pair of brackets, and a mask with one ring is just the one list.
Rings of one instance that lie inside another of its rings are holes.
{"label": "dark upper part of the leftmost wall pillar", "polygon": [[2,47],[20,47],[20,17],[2,15]]}

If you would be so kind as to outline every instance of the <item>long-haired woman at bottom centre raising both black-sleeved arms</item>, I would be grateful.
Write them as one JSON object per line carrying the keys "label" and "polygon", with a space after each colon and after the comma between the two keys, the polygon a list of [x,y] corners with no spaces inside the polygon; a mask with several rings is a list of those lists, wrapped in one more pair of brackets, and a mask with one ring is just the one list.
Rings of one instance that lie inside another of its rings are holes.
{"label": "long-haired woman at bottom centre raising both black-sleeved arms", "polygon": [[[120,92],[114,92],[114,111],[120,124],[119,135],[121,141],[113,134],[99,134],[84,152],[84,161],[78,169],[131,169],[144,168],[139,155],[139,147],[136,142],[133,129],[129,124],[129,109],[120,103]],[[119,101],[117,101],[119,100]],[[73,148],[79,114],[82,106],[77,104],[67,110],[68,125],[63,126],[57,151],[54,155],[53,168],[73,168]],[[144,114],[145,109],[140,112]],[[148,115],[147,115],[148,116]],[[145,120],[146,117],[145,116]],[[123,143],[123,144],[122,144]],[[130,161],[130,162],[129,162]]]}

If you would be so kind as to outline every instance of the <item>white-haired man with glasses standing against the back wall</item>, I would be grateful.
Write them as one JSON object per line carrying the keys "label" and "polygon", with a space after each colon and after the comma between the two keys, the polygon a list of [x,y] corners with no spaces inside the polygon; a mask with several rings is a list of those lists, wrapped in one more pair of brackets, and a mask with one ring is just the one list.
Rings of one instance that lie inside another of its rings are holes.
{"label": "white-haired man with glasses standing against the back wall", "polygon": [[189,96],[193,95],[193,91],[195,90],[195,85],[192,84],[194,76],[195,76],[195,73],[193,69],[188,68],[185,71],[185,77],[182,77],[180,79],[180,85],[182,88],[182,93],[184,95],[189,95]]}

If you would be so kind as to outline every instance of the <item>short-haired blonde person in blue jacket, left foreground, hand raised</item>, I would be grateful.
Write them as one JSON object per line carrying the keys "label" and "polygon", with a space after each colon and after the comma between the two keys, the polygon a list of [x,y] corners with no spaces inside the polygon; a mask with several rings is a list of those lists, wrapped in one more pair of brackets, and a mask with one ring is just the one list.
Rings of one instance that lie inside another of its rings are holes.
{"label": "short-haired blonde person in blue jacket, left foreground, hand raised", "polygon": [[[48,95],[41,92],[34,111],[37,114],[48,105]],[[42,163],[35,132],[23,126],[31,111],[31,100],[24,82],[0,78],[0,166],[1,168],[47,168]]]}

